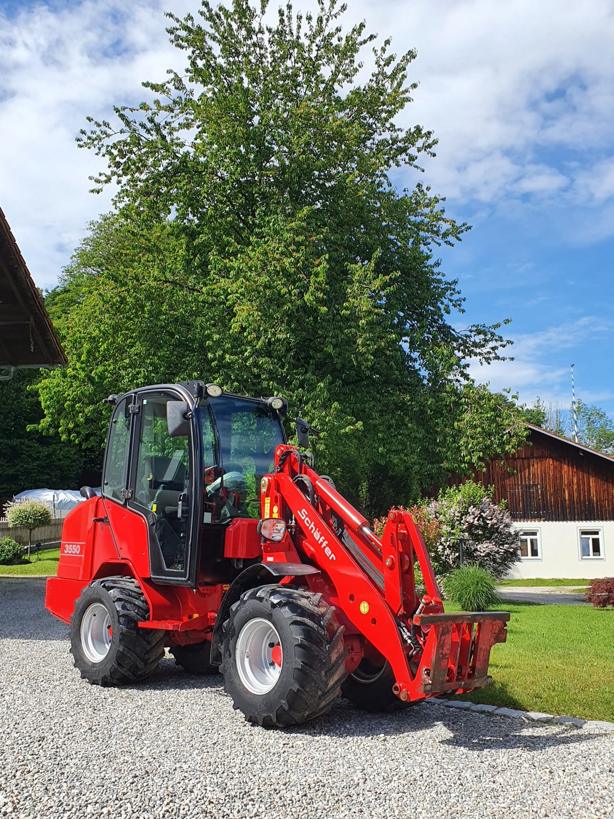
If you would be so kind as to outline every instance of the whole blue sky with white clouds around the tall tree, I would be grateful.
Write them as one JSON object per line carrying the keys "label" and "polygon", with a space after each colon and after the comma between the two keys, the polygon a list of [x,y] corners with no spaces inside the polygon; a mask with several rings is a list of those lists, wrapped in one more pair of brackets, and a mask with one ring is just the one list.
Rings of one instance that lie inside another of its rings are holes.
{"label": "whole blue sky with white clouds around the tall tree", "polygon": [[[295,0],[305,9],[309,0]],[[273,7],[278,3],[273,2]],[[441,251],[464,324],[493,324],[514,360],[472,368],[521,401],[576,396],[614,417],[614,0],[349,0],[401,53],[419,87],[400,124],[432,129],[424,174],[472,225]],[[145,98],[181,70],[164,11],[198,0],[0,0],[0,206],[39,287],[53,287],[87,225],[111,208],[88,192],[101,167],[74,142],[86,116]]]}

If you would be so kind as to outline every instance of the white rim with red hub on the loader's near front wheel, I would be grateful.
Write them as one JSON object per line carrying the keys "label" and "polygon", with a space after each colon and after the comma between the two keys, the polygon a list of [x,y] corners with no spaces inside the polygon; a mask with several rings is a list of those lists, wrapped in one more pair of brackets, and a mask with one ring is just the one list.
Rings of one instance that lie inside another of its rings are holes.
{"label": "white rim with red hub on the loader's near front wheel", "polygon": [[263,618],[246,622],[237,637],[235,662],[239,678],[251,694],[262,696],[273,690],[282,672],[282,659],[273,623]]}

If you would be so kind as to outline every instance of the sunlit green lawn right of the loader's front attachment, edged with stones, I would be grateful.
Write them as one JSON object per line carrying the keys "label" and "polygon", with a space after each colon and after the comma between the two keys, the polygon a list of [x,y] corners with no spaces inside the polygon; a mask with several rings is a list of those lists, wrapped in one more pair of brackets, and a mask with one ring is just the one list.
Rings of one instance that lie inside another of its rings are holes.
{"label": "sunlit green lawn right of the loader's front attachment, edged with stones", "polygon": [[614,722],[614,609],[508,602],[502,609],[512,619],[507,642],[490,655],[494,681],[461,699]]}

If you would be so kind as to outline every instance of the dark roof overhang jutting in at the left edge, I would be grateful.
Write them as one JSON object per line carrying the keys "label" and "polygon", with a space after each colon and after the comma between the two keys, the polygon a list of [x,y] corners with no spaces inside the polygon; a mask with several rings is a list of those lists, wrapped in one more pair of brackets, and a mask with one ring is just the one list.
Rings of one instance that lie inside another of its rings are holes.
{"label": "dark roof overhang jutting in at the left edge", "polygon": [[66,363],[43,299],[0,210],[0,368]]}

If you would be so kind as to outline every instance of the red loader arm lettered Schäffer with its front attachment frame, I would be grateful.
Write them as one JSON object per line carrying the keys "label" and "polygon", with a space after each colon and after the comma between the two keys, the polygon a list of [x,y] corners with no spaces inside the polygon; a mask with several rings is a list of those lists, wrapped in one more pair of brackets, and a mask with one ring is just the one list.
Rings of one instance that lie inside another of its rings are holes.
{"label": "red loader arm lettered Sch\u00e4ffer with its front attachment frame", "polygon": [[[506,612],[446,614],[427,548],[412,516],[392,510],[378,538],[332,482],[291,446],[275,451],[261,485],[263,517],[289,522],[293,545],[336,592],[335,604],[391,664],[395,694],[422,699],[485,686],[490,649],[506,639]],[[269,563],[286,552],[265,550]],[[416,593],[414,563],[427,594]]]}

